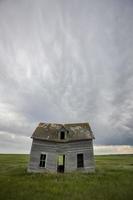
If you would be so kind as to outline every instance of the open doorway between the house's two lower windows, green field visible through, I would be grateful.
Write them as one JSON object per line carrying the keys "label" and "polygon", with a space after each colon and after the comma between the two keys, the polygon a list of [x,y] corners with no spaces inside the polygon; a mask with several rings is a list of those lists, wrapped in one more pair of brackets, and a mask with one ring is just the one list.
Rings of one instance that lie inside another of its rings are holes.
{"label": "open doorway between the house's two lower windows, green field visible through", "polygon": [[65,155],[59,155],[57,159],[57,172],[64,173],[65,170]]}

